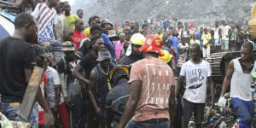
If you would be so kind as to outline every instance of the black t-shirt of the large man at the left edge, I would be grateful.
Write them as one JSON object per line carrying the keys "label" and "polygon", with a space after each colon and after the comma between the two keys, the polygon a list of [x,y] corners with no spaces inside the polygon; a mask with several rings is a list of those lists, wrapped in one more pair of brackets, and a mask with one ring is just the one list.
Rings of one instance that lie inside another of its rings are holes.
{"label": "black t-shirt of the large man at the left edge", "polygon": [[36,65],[35,49],[20,38],[3,38],[0,58],[2,102],[22,102],[27,86],[24,69],[33,69]]}

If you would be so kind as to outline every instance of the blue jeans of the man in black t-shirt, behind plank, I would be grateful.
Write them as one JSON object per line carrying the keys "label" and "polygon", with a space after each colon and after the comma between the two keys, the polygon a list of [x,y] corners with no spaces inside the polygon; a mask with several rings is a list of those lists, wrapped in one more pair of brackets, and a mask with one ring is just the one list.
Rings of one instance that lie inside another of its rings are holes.
{"label": "blue jeans of the man in black t-shirt, behind plank", "polygon": [[[1,102],[2,112],[3,114],[10,120],[15,120],[16,113],[20,111],[20,106],[11,108],[10,103]],[[30,124],[32,128],[38,128],[38,106],[36,103],[32,108],[32,113],[30,114]]]}

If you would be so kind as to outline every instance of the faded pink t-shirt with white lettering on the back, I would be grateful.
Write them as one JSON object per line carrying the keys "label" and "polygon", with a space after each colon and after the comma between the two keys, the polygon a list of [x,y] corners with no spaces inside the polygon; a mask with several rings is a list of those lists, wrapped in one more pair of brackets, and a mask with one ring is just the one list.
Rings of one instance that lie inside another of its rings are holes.
{"label": "faded pink t-shirt with white lettering on the back", "polygon": [[142,90],[132,119],[170,119],[169,96],[175,86],[172,69],[159,58],[146,57],[132,64],[129,83],[140,81]]}

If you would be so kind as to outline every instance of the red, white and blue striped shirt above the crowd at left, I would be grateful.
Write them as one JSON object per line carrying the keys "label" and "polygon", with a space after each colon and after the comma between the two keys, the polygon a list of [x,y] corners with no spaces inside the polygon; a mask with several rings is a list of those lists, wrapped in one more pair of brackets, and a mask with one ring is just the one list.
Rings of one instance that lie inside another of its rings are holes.
{"label": "red, white and blue striped shirt above the crowd at left", "polygon": [[55,9],[49,9],[46,3],[38,3],[32,15],[38,23],[38,41],[54,41],[53,26],[57,24]]}

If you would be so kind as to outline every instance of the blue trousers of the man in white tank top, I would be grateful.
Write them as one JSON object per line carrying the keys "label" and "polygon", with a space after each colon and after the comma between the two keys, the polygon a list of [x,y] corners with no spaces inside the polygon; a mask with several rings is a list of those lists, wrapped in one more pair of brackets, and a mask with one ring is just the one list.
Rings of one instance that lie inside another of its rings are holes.
{"label": "blue trousers of the man in white tank top", "polygon": [[254,102],[243,101],[239,98],[232,98],[233,108],[240,117],[240,128],[251,128],[254,113]]}

